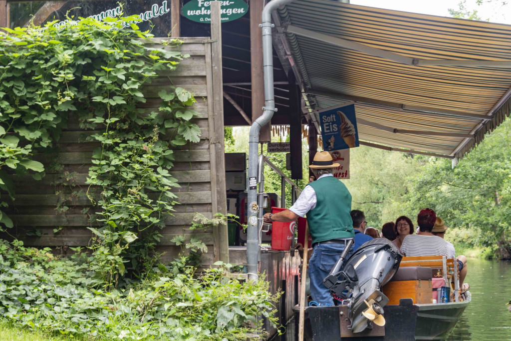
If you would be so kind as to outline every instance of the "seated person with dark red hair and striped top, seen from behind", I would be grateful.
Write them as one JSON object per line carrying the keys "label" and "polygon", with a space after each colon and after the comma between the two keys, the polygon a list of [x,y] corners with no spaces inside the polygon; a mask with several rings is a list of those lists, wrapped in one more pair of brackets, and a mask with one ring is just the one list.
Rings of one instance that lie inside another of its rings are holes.
{"label": "seated person with dark red hair and striped top, seen from behind", "polygon": [[435,211],[422,209],[417,215],[419,232],[416,235],[408,235],[404,238],[401,253],[408,257],[447,256],[447,242],[431,233],[435,221]]}

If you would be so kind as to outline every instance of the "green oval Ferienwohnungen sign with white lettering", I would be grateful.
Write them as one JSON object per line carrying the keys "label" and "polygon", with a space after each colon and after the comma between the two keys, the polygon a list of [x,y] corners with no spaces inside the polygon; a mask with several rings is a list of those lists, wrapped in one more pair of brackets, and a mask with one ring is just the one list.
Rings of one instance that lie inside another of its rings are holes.
{"label": "green oval Ferienwohnungen sign with white lettering", "polygon": [[[181,14],[192,21],[211,22],[211,1],[192,0],[183,5]],[[248,5],[243,0],[225,0],[220,2],[220,16],[222,22],[236,20],[244,16]]]}

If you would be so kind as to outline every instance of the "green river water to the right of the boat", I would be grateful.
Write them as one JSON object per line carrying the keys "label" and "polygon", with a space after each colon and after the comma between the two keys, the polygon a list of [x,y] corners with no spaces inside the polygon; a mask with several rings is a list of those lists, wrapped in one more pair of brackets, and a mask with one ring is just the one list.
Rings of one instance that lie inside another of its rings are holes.
{"label": "green river water to the right of the boat", "polygon": [[449,340],[511,340],[511,263],[469,260],[472,302]]}

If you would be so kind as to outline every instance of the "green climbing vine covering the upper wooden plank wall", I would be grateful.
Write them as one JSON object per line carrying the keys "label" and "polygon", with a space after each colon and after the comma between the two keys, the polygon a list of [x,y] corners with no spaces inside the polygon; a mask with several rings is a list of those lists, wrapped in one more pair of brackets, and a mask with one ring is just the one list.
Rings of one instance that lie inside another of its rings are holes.
{"label": "green climbing vine covering the upper wooden plank wall", "polygon": [[[87,197],[97,208],[90,229],[102,246],[122,249],[108,284],[126,272],[126,262],[137,271],[149,261],[172,211],[170,190],[178,186],[169,173],[170,147],[198,142],[200,135],[191,122],[195,99],[183,88],[161,90],[158,112],[137,108],[146,102],[144,85],[188,56],[168,48],[176,39],[151,43],[136,20],[85,18],[0,33],[0,189],[14,199],[9,173],[43,177],[37,154],[55,147],[77,117],[87,141],[99,145],[87,177]],[[13,226],[0,215],[0,223]]]}

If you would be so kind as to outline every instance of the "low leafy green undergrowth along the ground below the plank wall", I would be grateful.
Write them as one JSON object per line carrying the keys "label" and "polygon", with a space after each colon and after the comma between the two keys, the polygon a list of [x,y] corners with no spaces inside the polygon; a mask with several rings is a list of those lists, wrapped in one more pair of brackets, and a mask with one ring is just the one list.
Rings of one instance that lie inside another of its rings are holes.
{"label": "low leafy green undergrowth along the ground below the plank wall", "polygon": [[243,340],[261,315],[274,322],[269,283],[240,281],[230,264],[198,275],[182,256],[107,292],[89,289],[98,267],[82,253],[61,259],[2,240],[0,251],[0,314],[17,326],[90,339]]}

